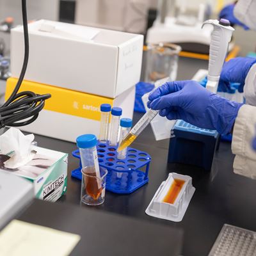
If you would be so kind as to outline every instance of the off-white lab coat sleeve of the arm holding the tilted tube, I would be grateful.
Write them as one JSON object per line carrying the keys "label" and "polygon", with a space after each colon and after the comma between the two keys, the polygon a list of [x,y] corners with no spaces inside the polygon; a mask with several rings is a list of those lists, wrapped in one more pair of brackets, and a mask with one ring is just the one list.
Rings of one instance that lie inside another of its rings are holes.
{"label": "off-white lab coat sleeve of the arm holding the tilted tube", "polygon": [[242,106],[234,124],[232,138],[232,152],[236,154],[234,172],[251,179],[256,179],[256,152],[253,150],[255,125],[256,107]]}

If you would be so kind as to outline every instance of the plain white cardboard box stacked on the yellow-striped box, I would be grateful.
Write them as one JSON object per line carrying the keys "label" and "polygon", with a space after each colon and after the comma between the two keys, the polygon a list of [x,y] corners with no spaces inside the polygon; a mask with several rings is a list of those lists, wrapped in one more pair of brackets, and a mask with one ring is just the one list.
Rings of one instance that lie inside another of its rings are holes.
{"label": "plain white cardboard box stacked on the yellow-striped box", "polygon": [[[11,71],[24,57],[22,26],[11,33]],[[25,79],[115,98],[140,81],[143,36],[38,20],[29,24]]]}

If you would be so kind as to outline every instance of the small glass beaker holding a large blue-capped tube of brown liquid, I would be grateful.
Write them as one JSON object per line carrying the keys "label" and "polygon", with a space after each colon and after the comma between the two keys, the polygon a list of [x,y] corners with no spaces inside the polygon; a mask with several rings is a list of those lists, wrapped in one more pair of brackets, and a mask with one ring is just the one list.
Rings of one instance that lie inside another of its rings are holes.
{"label": "small glass beaker holding a large blue-capped tube of brown liquid", "polygon": [[100,205],[105,200],[106,175],[108,170],[100,167],[100,178],[92,172],[92,167],[84,167],[82,173],[81,202],[87,205]]}

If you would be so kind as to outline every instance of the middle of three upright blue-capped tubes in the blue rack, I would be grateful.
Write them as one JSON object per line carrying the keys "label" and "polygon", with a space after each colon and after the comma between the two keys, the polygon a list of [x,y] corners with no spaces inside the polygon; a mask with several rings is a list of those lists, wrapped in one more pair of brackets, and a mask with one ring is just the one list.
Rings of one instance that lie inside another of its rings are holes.
{"label": "middle of three upright blue-capped tubes in the blue rack", "polygon": [[120,116],[122,115],[122,108],[111,109],[111,125],[109,132],[109,145],[116,146],[118,143],[118,132]]}

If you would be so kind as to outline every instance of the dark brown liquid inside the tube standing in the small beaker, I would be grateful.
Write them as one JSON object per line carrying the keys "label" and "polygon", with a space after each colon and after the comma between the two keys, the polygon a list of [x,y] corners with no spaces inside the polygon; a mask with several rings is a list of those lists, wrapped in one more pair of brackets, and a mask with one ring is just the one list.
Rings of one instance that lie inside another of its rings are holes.
{"label": "dark brown liquid inside the tube standing in the small beaker", "polygon": [[[92,168],[92,171],[94,168]],[[101,180],[96,178],[96,172],[86,172],[84,175],[84,186],[86,189],[86,193],[94,200],[97,200],[102,191]]]}

